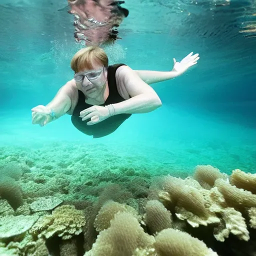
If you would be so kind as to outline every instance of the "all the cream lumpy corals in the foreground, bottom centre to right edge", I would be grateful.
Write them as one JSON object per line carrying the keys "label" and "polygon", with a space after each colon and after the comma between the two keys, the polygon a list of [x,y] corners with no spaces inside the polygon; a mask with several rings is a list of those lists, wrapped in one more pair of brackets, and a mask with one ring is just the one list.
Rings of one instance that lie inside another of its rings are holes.
{"label": "all the cream lumpy corals in the foreground, bottom centre to right edge", "polygon": [[[193,177],[200,180],[204,187],[191,177],[181,179],[170,175],[152,184],[153,195],[148,197],[158,198],[147,201],[140,224],[124,207],[120,207],[121,210],[114,216],[108,214],[107,218],[102,218],[101,221],[106,222],[105,225],[101,223],[104,229],[99,231],[92,248],[84,255],[103,255],[103,251],[113,256],[217,255],[202,240],[189,234],[186,225],[179,225],[183,230],[175,229],[175,222],[180,220],[186,221],[192,228],[208,227],[207,236],[211,235],[211,239],[219,242],[225,242],[230,234],[237,240],[249,241],[249,228],[255,228],[255,195],[231,185],[228,176],[210,165],[196,166],[196,172]],[[250,178],[253,182],[255,174],[251,174]],[[105,207],[101,207],[99,216]],[[107,212],[115,211],[116,205],[108,204]],[[110,225],[109,216],[112,216]],[[143,240],[142,243],[138,237]]]}

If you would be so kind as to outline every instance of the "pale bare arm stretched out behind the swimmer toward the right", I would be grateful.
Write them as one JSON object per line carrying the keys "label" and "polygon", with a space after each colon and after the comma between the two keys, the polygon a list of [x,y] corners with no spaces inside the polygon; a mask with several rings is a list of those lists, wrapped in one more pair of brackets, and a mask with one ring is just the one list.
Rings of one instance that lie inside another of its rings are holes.
{"label": "pale bare arm stretched out behind the swimmer toward the right", "polygon": [[171,71],[152,71],[152,70],[134,70],[134,71],[147,84],[166,81],[181,75],[190,66],[197,63],[197,60],[199,59],[199,54],[198,53],[194,55],[192,54],[193,52],[190,52],[180,62],[176,62],[175,58],[173,58],[174,65]]}

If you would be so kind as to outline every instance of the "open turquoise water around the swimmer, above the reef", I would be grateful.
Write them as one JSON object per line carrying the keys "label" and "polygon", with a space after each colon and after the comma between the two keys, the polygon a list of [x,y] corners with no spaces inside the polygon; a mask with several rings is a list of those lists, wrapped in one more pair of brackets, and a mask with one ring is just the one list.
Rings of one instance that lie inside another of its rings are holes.
{"label": "open turquoise water around the swimmer, above the reef", "polygon": [[200,60],[180,77],[152,85],[162,107],[134,114],[94,140],[68,115],[45,127],[31,124],[30,109],[47,104],[72,78],[70,59],[82,47],[67,2],[1,0],[0,145],[102,143],[124,157],[173,161],[184,170],[212,164],[255,172],[255,2],[126,0],[123,7],[129,16],[118,28],[122,39],[104,48],[110,64],[167,71],[173,57],[180,61],[190,51]]}

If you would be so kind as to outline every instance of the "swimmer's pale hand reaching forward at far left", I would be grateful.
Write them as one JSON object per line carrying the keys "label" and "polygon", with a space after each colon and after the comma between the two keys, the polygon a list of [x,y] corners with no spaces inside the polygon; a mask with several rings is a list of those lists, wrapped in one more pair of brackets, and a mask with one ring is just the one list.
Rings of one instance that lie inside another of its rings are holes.
{"label": "swimmer's pale hand reaching forward at far left", "polygon": [[32,124],[39,124],[44,126],[51,121],[51,111],[44,105],[38,105],[31,109],[32,111]]}

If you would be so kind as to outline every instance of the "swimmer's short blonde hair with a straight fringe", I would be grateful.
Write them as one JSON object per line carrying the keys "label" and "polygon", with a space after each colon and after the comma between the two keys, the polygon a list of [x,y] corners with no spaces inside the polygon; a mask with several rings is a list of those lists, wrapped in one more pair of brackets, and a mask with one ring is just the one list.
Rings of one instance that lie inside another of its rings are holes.
{"label": "swimmer's short blonde hair with a straight fringe", "polygon": [[103,49],[98,46],[87,46],[78,50],[72,57],[70,66],[74,72],[84,69],[93,69],[93,62],[99,61],[105,67],[108,66],[108,57]]}

